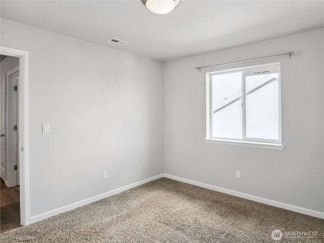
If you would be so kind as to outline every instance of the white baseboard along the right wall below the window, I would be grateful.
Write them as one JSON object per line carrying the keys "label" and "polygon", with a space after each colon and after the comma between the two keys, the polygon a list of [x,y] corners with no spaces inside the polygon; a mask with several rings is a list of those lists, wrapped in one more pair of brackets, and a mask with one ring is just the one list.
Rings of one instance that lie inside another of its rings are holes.
{"label": "white baseboard along the right wall below the window", "polygon": [[294,211],[294,212],[297,212],[297,213],[306,214],[306,215],[310,215],[310,216],[317,217],[317,218],[320,218],[320,219],[324,219],[324,213],[322,213],[322,212],[318,212],[318,211],[314,211],[314,210],[310,210],[310,209],[305,209],[305,208],[301,208],[301,207],[298,207],[298,206],[289,205],[289,204],[285,204],[285,203],[280,203],[279,201],[274,201],[274,200],[266,199],[266,198],[259,197],[259,196],[254,196],[254,195],[250,195],[250,194],[246,194],[246,193],[242,193],[242,192],[238,192],[238,191],[233,191],[233,190],[225,189],[225,188],[222,188],[222,187],[201,183],[201,182],[198,182],[198,181],[193,181],[193,180],[181,178],[181,177],[178,177],[178,176],[172,176],[172,175],[169,175],[169,174],[163,174],[163,176],[166,177],[166,178],[169,178],[169,179],[185,182],[185,183],[188,183],[188,184],[191,184],[191,185],[200,186],[200,187],[204,187],[204,188],[207,188],[207,189],[210,189],[210,190],[219,191],[219,192],[223,192],[223,193],[226,193],[226,194],[229,194],[229,195],[238,196],[238,197],[242,197],[242,198],[245,198],[245,199],[257,201],[258,203],[267,204],[267,205],[271,205],[271,206],[274,206],[274,207],[277,207],[277,208],[287,209],[287,210]]}

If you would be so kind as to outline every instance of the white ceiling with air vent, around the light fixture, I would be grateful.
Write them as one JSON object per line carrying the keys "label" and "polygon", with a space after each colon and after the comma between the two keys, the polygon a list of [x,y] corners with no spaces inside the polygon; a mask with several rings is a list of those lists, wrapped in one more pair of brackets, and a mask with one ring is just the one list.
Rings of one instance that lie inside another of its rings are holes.
{"label": "white ceiling with air vent, around the light fixture", "polygon": [[[324,26],[324,1],[1,1],[1,17],[161,61]],[[120,46],[107,42],[117,38]]]}

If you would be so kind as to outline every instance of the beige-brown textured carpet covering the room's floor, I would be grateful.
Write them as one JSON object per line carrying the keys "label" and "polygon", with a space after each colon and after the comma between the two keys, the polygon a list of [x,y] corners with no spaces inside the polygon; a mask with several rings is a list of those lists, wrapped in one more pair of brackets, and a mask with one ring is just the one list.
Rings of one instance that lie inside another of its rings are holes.
{"label": "beige-brown textured carpet covering the room's floor", "polygon": [[[296,233],[308,231],[316,237]],[[324,242],[324,220],[161,178],[7,231],[0,242]]]}

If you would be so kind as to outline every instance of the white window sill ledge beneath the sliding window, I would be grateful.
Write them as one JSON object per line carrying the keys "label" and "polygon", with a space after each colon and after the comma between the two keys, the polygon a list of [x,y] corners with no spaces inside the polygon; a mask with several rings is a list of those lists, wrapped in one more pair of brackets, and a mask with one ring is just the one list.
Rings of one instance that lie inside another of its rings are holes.
{"label": "white window sill ledge beneath the sliding window", "polygon": [[250,141],[216,139],[216,138],[206,138],[205,142],[227,144],[227,145],[238,145],[238,146],[254,147],[254,148],[264,148],[264,149],[272,149],[272,150],[282,150],[285,147],[285,145],[277,144],[277,143],[262,143],[262,142],[250,142]]}

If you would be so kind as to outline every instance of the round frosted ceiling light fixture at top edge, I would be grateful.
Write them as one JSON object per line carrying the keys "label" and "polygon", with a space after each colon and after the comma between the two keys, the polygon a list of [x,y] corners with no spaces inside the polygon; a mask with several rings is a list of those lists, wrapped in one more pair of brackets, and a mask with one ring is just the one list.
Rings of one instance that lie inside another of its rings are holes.
{"label": "round frosted ceiling light fixture at top edge", "polygon": [[154,14],[167,14],[178,6],[179,0],[142,0],[142,3]]}

